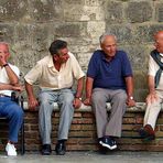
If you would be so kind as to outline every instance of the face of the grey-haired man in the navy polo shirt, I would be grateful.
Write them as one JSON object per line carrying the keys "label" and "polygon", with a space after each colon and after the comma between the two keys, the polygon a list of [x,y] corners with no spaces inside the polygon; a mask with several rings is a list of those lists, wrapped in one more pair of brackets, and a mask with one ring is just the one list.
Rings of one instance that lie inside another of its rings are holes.
{"label": "face of the grey-haired man in the navy polo shirt", "polygon": [[101,43],[101,50],[107,54],[108,57],[112,57],[117,51],[117,42],[115,36],[108,35],[105,41]]}

